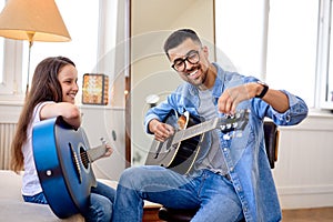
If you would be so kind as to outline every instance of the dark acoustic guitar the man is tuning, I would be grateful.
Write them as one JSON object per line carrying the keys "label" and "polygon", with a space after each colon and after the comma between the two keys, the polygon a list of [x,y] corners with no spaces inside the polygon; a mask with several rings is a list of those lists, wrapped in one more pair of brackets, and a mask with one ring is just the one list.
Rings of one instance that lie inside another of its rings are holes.
{"label": "dark acoustic guitar the man is tuning", "polygon": [[172,125],[175,133],[164,142],[153,140],[145,164],[161,165],[181,174],[189,173],[196,160],[205,132],[214,129],[220,129],[223,133],[241,131],[248,121],[248,110],[240,110],[234,115],[214,118],[204,122],[200,122],[188,111],[180,117],[171,111],[163,122]]}

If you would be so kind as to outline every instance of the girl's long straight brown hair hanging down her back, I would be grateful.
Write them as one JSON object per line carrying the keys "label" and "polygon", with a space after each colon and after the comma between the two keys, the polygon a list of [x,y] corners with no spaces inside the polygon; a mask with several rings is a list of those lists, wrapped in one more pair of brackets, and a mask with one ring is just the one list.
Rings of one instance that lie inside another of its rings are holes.
{"label": "girl's long straight brown hair hanging down her back", "polygon": [[62,90],[58,80],[58,73],[67,64],[75,67],[68,58],[50,57],[42,60],[34,70],[31,89],[26,98],[16,134],[11,143],[10,168],[16,173],[23,170],[24,161],[22,147],[27,141],[27,131],[31,123],[34,107],[43,101],[62,101]]}

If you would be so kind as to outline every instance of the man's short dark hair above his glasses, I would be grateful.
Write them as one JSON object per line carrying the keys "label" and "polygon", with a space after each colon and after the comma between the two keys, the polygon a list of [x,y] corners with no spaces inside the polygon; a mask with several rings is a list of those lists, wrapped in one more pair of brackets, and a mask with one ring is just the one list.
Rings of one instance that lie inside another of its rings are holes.
{"label": "man's short dark hair above his glasses", "polygon": [[164,52],[169,58],[168,51],[181,44],[186,39],[191,39],[201,44],[200,38],[192,29],[179,29],[172,32],[164,43]]}

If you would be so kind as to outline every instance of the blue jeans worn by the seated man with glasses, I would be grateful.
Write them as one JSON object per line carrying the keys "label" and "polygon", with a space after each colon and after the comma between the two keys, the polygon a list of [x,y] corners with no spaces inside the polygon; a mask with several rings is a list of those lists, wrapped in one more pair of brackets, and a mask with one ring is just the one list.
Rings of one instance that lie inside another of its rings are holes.
{"label": "blue jeans worn by the seated man with glasses", "polygon": [[142,221],[143,200],[167,208],[199,209],[192,222],[243,219],[232,183],[209,170],[191,178],[158,165],[127,169],[117,188],[112,221]]}

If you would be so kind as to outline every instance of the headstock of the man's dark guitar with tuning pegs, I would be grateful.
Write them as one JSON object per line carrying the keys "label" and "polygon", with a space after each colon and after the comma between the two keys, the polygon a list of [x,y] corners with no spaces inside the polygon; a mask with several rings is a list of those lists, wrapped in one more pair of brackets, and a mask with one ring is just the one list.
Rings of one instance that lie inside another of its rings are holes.
{"label": "headstock of the man's dark guitar with tuning pegs", "polygon": [[249,121],[249,110],[239,110],[235,114],[219,118],[216,128],[223,133],[243,130]]}

